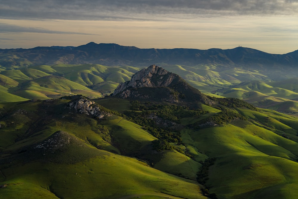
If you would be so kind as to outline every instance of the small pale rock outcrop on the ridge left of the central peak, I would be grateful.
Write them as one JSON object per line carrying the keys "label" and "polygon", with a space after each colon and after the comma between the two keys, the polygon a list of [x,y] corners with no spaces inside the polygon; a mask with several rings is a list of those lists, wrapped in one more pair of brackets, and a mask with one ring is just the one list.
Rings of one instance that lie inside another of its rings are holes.
{"label": "small pale rock outcrop on the ridge left of the central peak", "polygon": [[86,115],[93,115],[97,119],[111,116],[111,113],[105,112],[102,108],[95,104],[94,101],[88,100],[84,97],[79,97],[66,104],[69,109],[74,109]]}

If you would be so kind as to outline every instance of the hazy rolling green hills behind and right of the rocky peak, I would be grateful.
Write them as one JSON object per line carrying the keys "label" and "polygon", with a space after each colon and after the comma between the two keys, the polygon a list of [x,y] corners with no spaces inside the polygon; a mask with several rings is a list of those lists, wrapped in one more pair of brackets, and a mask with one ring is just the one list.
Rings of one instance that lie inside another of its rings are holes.
{"label": "hazy rolling green hills behind and right of the rocky peak", "polygon": [[[274,71],[260,68],[250,69],[225,67],[220,65],[164,65],[193,87],[207,94],[240,98],[257,107],[269,108],[281,112],[298,112],[295,100],[297,77],[295,71]],[[293,78],[295,77],[295,78]],[[288,79],[289,78],[289,79]],[[282,81],[276,81],[281,80]],[[294,100],[294,101],[293,101]]]}

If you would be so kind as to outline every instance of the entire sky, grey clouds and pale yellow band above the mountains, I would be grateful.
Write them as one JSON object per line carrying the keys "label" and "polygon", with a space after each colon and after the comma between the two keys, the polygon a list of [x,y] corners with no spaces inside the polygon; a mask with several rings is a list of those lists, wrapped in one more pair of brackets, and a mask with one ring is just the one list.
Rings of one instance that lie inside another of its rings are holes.
{"label": "entire sky, grey clouds and pale yellow band above the mountains", "polygon": [[0,48],[298,50],[298,0],[0,0]]}

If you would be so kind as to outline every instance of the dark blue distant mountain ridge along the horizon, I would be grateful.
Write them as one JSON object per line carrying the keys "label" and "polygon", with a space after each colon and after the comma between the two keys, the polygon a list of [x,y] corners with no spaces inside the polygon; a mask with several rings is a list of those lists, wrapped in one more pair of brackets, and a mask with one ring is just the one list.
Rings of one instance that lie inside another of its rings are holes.
{"label": "dark blue distant mountain ridge along the horizon", "polygon": [[31,49],[0,49],[0,65],[18,68],[32,65],[53,64],[103,64],[107,66],[151,64],[217,64],[224,66],[294,67],[298,64],[298,50],[279,55],[252,48],[208,50],[198,49],[141,49],[118,44],[90,42],[78,47],[35,47]]}

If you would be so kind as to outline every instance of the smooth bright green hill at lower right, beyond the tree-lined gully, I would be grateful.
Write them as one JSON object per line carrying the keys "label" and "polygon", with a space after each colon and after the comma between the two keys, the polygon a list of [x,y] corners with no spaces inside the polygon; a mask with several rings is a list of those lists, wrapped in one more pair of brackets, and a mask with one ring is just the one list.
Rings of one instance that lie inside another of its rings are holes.
{"label": "smooth bright green hill at lower right, beyond the tree-lined gully", "polygon": [[[254,125],[212,127],[189,135],[193,146],[216,157],[207,181],[214,187],[211,192],[225,198],[290,198],[297,194],[284,193],[297,185],[298,163],[290,160],[297,158],[296,142]],[[265,194],[270,191],[274,194]]]}

